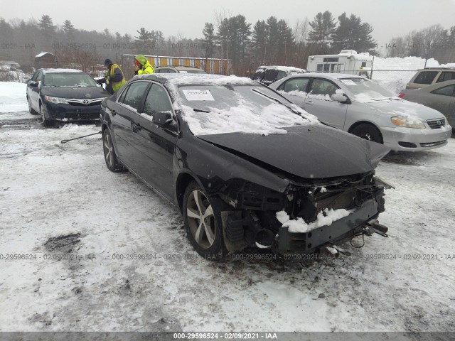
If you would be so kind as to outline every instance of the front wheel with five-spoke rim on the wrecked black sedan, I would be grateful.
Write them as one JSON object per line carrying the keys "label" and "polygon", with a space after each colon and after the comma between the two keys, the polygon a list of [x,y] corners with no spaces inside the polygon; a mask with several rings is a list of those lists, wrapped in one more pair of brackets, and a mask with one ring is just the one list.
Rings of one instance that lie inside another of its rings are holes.
{"label": "front wheel with five-spoke rim on the wrecked black sedan", "polygon": [[194,249],[210,260],[223,259],[221,215],[208,195],[193,181],[183,196],[183,220],[186,234]]}

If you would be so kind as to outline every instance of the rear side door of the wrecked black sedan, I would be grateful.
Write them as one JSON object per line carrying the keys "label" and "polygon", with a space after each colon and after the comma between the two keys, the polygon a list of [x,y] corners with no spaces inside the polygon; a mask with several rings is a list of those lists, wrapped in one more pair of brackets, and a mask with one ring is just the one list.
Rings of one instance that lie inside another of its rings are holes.
{"label": "rear side door of the wrecked black sedan", "polygon": [[132,82],[120,94],[117,102],[110,102],[108,106],[112,114],[112,134],[114,134],[117,156],[133,171],[137,171],[135,163],[140,156],[134,146],[133,124],[149,85],[151,83],[146,80]]}

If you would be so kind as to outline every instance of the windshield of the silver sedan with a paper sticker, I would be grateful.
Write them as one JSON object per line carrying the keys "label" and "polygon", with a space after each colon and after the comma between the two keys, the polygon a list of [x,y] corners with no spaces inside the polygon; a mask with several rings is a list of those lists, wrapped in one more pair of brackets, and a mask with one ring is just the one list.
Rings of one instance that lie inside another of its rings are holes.
{"label": "windshield of the silver sedan with a paper sticker", "polygon": [[399,99],[387,89],[367,78],[342,78],[343,85],[355,96],[358,102]]}

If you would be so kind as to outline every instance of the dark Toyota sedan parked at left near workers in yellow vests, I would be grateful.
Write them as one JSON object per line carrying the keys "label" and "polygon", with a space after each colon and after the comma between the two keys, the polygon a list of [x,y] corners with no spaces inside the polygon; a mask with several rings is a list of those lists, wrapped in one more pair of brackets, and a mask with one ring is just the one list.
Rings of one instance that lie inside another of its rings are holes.
{"label": "dark Toyota sedan parked at left near workers in yellow vests", "polygon": [[101,101],[110,96],[87,73],[73,69],[39,69],[27,82],[31,114],[41,114],[43,124],[97,121]]}

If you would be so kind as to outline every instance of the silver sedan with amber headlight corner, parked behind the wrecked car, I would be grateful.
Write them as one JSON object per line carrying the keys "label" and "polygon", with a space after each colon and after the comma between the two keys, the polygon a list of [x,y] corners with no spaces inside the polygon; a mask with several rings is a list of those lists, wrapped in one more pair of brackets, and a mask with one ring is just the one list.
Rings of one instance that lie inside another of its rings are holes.
{"label": "silver sedan with amber headlight corner, parked behind the wrecked car", "polygon": [[393,151],[422,151],[447,144],[444,114],[396,97],[364,77],[339,73],[291,75],[269,86],[320,121]]}

